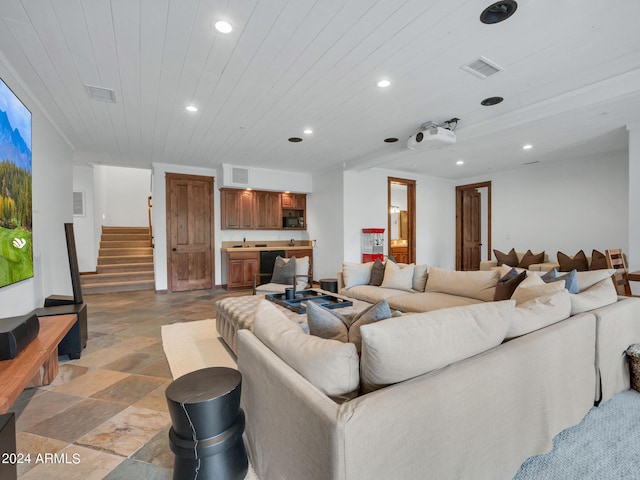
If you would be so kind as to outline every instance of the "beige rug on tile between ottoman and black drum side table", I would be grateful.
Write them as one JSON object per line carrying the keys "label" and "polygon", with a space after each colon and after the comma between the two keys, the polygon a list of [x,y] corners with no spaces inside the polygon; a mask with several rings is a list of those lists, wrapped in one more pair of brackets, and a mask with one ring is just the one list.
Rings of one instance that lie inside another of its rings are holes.
{"label": "beige rug on tile between ottoman and black drum side table", "polygon": [[[163,325],[162,347],[174,379],[201,368],[237,367],[233,352],[218,336],[215,320]],[[245,480],[258,480],[251,462]]]}

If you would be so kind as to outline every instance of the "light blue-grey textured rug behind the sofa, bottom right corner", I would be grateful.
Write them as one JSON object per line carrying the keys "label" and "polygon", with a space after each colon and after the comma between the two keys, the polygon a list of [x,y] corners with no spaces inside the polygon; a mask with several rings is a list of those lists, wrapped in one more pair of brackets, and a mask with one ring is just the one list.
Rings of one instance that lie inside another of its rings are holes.
{"label": "light blue-grey textured rug behind the sofa, bottom right corner", "polygon": [[514,480],[640,478],[640,393],[627,390],[593,407],[553,439],[553,450],[529,458]]}

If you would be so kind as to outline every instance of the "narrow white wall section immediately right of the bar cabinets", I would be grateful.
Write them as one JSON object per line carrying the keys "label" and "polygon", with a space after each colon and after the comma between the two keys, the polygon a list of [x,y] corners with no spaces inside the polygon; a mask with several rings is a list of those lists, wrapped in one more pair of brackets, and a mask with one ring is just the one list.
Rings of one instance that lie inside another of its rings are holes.
{"label": "narrow white wall section immediately right of the bar cabinets", "polygon": [[342,168],[313,176],[313,194],[307,196],[307,233],[315,240],[313,278],[335,278],[344,251]]}

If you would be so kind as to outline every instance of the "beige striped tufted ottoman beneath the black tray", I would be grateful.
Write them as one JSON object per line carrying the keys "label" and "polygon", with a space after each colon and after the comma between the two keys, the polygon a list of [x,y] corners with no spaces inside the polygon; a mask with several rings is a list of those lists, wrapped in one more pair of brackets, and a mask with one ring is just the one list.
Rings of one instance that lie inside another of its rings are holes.
{"label": "beige striped tufted ottoman beneath the black tray", "polygon": [[[317,290],[317,289],[313,289]],[[318,290],[321,291],[321,290]],[[342,295],[338,295],[342,297]],[[343,297],[348,298],[348,297]],[[226,342],[229,348],[237,355],[236,349],[236,333],[241,329],[251,329],[253,325],[253,317],[258,308],[258,303],[264,300],[264,295],[245,295],[241,297],[227,297],[215,302],[216,308],[216,329]],[[360,312],[370,306],[370,303],[362,302],[349,298],[353,302],[353,306],[340,309],[340,313],[349,314]],[[275,305],[275,304],[274,304]],[[297,323],[302,329],[309,333],[307,326],[307,315],[292,312],[291,310],[276,305],[287,318]]]}

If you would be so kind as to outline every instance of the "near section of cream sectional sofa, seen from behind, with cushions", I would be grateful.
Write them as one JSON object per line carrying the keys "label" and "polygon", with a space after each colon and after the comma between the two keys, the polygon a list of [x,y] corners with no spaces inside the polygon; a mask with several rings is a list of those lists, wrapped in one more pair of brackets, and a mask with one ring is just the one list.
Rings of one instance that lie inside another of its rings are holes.
{"label": "near section of cream sectional sofa, seen from behind, with cushions", "polygon": [[[425,290],[441,293],[428,281]],[[387,301],[420,295],[395,293]],[[360,357],[262,302],[252,329],[237,334],[259,478],[513,478],[594,403],[629,388],[624,351],[640,342],[639,299],[571,315],[566,290],[553,298],[530,308],[471,298],[365,325]],[[588,295],[580,302],[588,308]],[[514,334],[525,318],[537,327]],[[335,400],[358,386],[359,395]]]}

